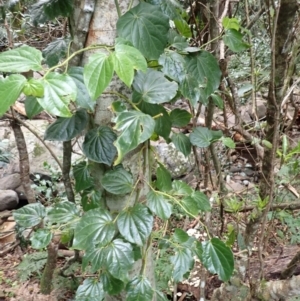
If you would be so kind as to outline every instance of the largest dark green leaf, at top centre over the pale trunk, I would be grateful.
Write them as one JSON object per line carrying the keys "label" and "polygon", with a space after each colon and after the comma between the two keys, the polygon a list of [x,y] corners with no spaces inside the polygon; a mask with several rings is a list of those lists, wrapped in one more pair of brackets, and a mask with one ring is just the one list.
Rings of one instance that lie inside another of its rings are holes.
{"label": "largest dark green leaf, at top centre over the pale trunk", "polygon": [[128,40],[148,60],[156,60],[167,45],[169,19],[159,7],[142,2],[121,16],[117,35]]}

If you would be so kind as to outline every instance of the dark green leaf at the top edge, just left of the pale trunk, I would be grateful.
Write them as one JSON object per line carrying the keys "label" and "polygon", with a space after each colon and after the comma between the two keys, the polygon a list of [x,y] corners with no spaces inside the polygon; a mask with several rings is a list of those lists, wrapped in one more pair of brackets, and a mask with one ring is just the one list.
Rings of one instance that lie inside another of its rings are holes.
{"label": "dark green leaf at the top edge, just left of the pale trunk", "polygon": [[55,19],[59,16],[69,17],[73,11],[72,0],[50,0],[44,1],[44,11],[49,19]]}

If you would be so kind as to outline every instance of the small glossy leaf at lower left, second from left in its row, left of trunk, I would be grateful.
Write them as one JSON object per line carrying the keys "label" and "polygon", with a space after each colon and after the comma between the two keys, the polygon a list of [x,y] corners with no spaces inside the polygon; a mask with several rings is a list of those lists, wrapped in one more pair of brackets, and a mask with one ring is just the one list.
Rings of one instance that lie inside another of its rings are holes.
{"label": "small glossy leaf at lower left, second from left in its row, left of trunk", "polygon": [[50,223],[63,224],[79,219],[79,210],[69,201],[59,202],[47,210],[47,219]]}

